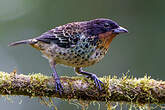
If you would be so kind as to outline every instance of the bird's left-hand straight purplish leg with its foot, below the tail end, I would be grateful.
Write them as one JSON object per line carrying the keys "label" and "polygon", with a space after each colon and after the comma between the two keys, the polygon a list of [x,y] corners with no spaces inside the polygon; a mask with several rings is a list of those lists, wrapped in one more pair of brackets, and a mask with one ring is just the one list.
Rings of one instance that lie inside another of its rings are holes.
{"label": "bird's left-hand straight purplish leg with its foot, below the tail end", "polygon": [[53,70],[53,77],[55,79],[56,92],[59,91],[59,93],[61,95],[62,91],[63,91],[63,87],[62,87],[61,82],[60,82],[60,77],[58,76],[56,69],[55,69],[55,66],[56,66],[55,61],[50,61],[50,66],[51,66],[51,69]]}

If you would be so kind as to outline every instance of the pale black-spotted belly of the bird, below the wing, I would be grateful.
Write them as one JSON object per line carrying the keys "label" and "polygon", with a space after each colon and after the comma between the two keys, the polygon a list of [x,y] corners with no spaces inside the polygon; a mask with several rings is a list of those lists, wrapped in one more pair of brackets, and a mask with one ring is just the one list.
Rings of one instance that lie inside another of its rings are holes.
{"label": "pale black-spotted belly of the bird, below the wing", "polygon": [[101,50],[94,47],[84,49],[79,46],[74,48],[59,48],[58,46],[50,46],[41,52],[47,59],[52,59],[57,64],[72,67],[88,67],[99,62],[105,55]]}

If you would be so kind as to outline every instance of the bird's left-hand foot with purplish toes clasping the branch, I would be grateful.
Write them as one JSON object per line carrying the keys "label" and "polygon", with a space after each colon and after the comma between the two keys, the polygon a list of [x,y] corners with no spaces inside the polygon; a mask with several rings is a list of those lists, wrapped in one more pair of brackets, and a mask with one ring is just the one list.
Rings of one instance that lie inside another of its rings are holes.
{"label": "bird's left-hand foot with purplish toes clasping the branch", "polygon": [[60,95],[62,95],[63,86],[61,84],[60,78],[55,78],[55,90],[56,92],[59,92]]}

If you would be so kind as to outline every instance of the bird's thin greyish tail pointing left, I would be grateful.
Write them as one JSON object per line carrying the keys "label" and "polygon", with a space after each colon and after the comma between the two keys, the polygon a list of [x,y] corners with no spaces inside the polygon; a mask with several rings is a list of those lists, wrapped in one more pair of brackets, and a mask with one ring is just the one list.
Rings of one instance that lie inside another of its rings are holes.
{"label": "bird's thin greyish tail pointing left", "polygon": [[37,42],[36,39],[28,39],[28,40],[21,40],[21,41],[10,43],[8,46],[16,46],[20,44],[35,44],[36,42]]}

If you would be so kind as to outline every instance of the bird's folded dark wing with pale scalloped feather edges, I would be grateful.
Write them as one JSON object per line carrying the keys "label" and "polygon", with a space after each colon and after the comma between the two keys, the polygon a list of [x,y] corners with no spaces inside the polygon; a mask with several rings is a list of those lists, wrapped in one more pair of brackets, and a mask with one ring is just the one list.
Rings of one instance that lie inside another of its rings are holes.
{"label": "bird's folded dark wing with pale scalloped feather edges", "polygon": [[43,33],[36,40],[45,43],[55,43],[62,48],[70,48],[77,44],[81,33],[78,25],[67,24]]}

